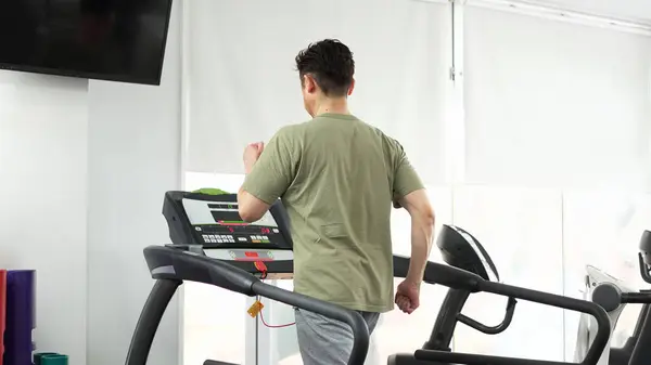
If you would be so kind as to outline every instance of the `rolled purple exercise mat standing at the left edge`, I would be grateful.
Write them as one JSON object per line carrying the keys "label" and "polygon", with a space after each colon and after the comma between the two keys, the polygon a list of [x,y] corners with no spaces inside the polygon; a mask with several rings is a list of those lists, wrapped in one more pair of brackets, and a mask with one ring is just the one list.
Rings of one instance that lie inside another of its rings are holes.
{"label": "rolled purple exercise mat standing at the left edge", "polygon": [[9,271],[3,365],[31,365],[34,328],[36,328],[36,271]]}

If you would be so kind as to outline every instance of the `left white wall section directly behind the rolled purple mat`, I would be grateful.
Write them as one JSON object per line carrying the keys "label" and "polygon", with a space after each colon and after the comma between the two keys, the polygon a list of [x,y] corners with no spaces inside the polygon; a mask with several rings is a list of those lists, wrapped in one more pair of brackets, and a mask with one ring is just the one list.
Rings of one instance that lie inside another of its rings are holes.
{"label": "left white wall section directly behind the rolled purple mat", "polygon": [[37,270],[37,351],[73,365],[86,355],[87,86],[0,71],[0,268]]}

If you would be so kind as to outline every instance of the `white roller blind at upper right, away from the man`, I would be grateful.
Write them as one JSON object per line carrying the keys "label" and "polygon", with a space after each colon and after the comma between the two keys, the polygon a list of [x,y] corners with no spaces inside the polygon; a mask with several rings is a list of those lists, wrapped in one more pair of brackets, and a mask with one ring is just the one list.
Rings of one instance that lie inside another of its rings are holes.
{"label": "white roller blind at upper right, away from the man", "polygon": [[475,6],[464,32],[470,182],[643,186],[650,38]]}

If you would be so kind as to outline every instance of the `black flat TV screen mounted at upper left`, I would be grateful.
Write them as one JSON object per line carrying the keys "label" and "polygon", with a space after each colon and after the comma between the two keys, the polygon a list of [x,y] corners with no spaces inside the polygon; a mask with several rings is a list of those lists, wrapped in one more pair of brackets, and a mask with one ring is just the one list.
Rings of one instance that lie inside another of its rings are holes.
{"label": "black flat TV screen mounted at upper left", "polygon": [[0,68],[159,84],[171,0],[0,0]]}

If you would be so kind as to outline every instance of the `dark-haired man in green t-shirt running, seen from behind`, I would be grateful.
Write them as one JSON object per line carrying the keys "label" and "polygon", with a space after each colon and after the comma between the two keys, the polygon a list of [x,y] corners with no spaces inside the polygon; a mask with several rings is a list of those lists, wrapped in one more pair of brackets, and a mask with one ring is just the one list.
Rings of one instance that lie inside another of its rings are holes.
{"label": "dark-haired man in green t-shirt running, seen from behind", "polygon": [[[327,39],[301,51],[296,66],[312,119],[280,129],[266,147],[246,147],[240,216],[256,221],[282,198],[294,242],[294,290],[359,311],[372,333],[394,302],[405,313],[419,307],[434,213],[400,144],[349,113],[350,50]],[[409,274],[395,298],[392,201],[411,216]],[[353,349],[347,325],[295,314],[304,364],[346,364]]]}

